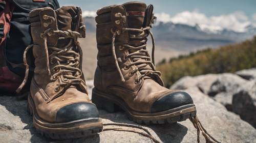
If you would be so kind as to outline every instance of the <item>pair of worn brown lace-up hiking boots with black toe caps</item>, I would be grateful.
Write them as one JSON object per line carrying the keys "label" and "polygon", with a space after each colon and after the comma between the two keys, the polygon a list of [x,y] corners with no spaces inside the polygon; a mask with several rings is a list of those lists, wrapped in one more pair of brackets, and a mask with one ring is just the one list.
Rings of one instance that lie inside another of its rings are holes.
{"label": "pair of worn brown lace-up hiking boots with black toe caps", "polygon": [[82,73],[78,38],[86,37],[79,7],[34,9],[29,14],[34,76],[28,96],[33,124],[54,139],[88,136],[102,130],[98,108],[121,108],[136,123],[175,123],[196,116],[189,94],[164,88],[160,72],[146,49],[155,19],[153,6],[141,2],[112,5],[97,11],[98,66],[92,101]]}

